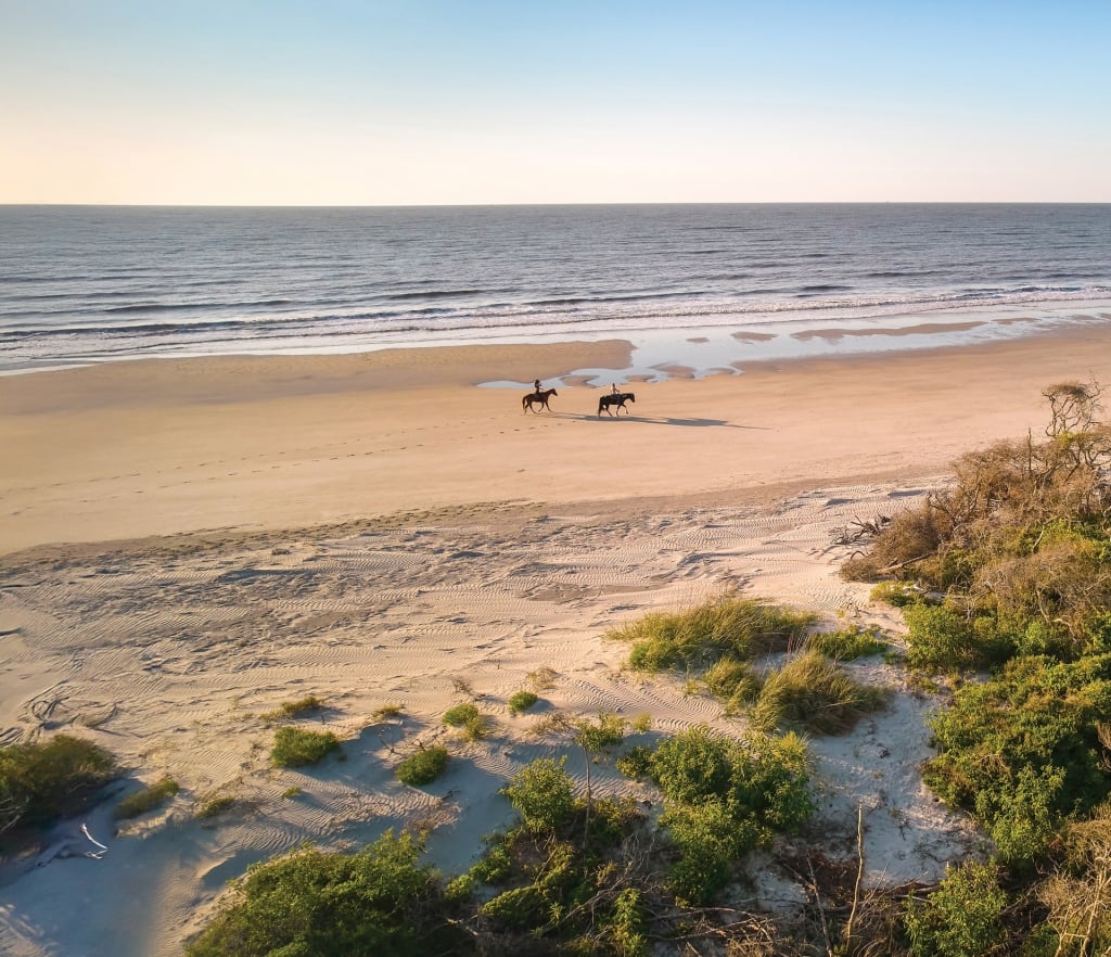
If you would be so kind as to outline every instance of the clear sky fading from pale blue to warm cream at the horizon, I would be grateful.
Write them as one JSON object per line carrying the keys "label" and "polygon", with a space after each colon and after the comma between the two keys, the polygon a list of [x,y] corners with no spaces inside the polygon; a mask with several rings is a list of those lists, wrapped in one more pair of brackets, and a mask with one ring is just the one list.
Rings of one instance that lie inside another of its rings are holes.
{"label": "clear sky fading from pale blue to warm cream at the horizon", "polygon": [[1111,202],[1111,0],[0,0],[0,203]]}

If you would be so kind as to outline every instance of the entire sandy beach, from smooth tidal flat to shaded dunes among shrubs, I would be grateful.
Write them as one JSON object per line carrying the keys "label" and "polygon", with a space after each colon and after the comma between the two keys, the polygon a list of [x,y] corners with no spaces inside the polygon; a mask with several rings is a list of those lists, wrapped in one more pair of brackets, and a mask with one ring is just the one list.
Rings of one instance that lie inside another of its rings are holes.
{"label": "entire sandy beach, from smooth tidal flat to shaded dunes among shrubs", "polygon": [[[628,355],[461,347],[0,379],[0,740],[96,740],[126,768],[116,799],[164,774],[181,785],[132,821],[106,801],[0,867],[0,951],[180,953],[228,879],[306,839],[427,826],[430,859],[459,873],[511,818],[497,789],[567,749],[530,732],[552,710],[647,712],[643,739],[737,730],[681,677],[625,670],[602,634],[740,587],[898,635],[897,612],[839,578],[834,531],[919,501],[963,451],[1040,435],[1041,390],[1105,375],[1111,335],[673,370],[624,387],[630,416],[599,418],[603,391],[575,372],[619,380]],[[522,412],[524,389],[477,388],[534,377],[558,387],[550,413]],[[812,742],[803,840],[853,857],[862,805],[869,883],[935,880],[982,847],[921,785],[938,702],[893,665],[850,667],[890,705]],[[532,686],[540,705],[512,716],[508,697]],[[347,760],[272,768],[260,716],[308,694],[327,707],[301,722],[343,738]],[[470,699],[494,728],[468,744],[440,716]],[[374,717],[390,704],[399,717]],[[418,742],[453,756],[422,789],[393,777]],[[574,751],[569,769],[584,779]],[[594,778],[651,799],[612,769]],[[760,864],[759,903],[797,907],[804,888]]]}

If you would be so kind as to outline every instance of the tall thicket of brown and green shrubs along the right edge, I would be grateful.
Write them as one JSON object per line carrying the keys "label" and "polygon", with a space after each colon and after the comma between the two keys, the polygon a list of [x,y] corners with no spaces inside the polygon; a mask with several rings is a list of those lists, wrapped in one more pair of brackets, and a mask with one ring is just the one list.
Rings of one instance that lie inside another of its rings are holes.
{"label": "tall thicket of brown and green shrubs along the right edge", "polygon": [[[1052,870],[1062,834],[1099,819],[1111,790],[1111,429],[1100,392],[1047,388],[1044,440],[963,456],[950,487],[843,568],[887,578],[877,588],[903,607],[912,668],[964,677],[932,721],[939,754],[924,779],[987,828],[1012,884]],[[915,947],[933,953],[921,920]],[[1090,940],[1061,947],[1092,953]]]}

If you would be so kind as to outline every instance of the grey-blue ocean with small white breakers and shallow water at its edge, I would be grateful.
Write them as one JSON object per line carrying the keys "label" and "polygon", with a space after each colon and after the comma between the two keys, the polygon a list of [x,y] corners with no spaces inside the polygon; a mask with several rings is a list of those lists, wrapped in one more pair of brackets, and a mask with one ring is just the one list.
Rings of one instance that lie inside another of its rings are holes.
{"label": "grey-blue ocean with small white breakers and shallow water at its edge", "polygon": [[1109,321],[1109,205],[0,207],[0,373],[620,338],[661,378]]}

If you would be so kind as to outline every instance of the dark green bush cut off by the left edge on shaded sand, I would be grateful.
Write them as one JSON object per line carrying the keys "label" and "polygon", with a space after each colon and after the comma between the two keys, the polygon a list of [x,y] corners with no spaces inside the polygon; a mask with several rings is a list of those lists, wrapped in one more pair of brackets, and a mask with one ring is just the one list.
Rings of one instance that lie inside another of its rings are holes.
{"label": "dark green bush cut off by the left edge on shaded sand", "polygon": [[116,775],[108,751],[70,735],[0,748],[0,834],[77,814]]}

